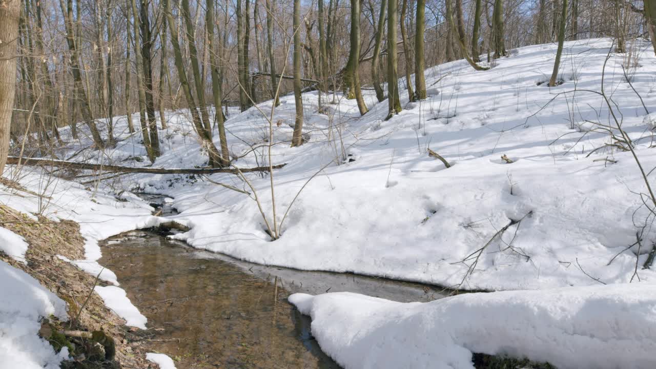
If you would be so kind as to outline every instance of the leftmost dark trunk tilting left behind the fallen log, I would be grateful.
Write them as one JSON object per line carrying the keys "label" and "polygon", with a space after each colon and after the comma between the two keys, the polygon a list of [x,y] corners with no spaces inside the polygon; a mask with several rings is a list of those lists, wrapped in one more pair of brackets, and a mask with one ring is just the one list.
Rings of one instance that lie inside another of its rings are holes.
{"label": "leftmost dark trunk tilting left behind the fallen log", "polygon": [[75,47],[75,32],[73,32],[73,0],[68,0],[67,3],[64,3],[64,0],[59,0],[59,5],[64,14],[66,41],[68,42],[68,49],[70,50],[71,72],[73,74],[73,85],[75,86],[75,98],[77,99],[80,111],[82,112],[82,118],[87,123],[87,126],[89,126],[89,131],[91,131],[91,137],[93,137],[93,142],[96,145],[96,148],[101,149],[104,147],[104,142],[102,142],[102,139],[100,138],[96,122],[93,119],[89,100],[87,100],[87,92],[85,91],[82,82],[82,74],[79,65],[77,64],[79,59],[78,51]]}

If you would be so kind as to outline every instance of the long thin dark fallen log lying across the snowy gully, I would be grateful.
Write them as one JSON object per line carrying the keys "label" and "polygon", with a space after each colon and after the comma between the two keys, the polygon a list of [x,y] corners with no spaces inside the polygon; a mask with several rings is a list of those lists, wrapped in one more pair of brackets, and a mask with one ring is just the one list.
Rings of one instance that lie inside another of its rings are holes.
{"label": "long thin dark fallen log lying across the snowy gully", "polygon": [[[252,168],[153,168],[153,167],[125,167],[123,165],[106,165],[106,164],[92,164],[92,163],[79,163],[67,162],[66,160],[52,160],[47,158],[18,158],[17,156],[9,156],[7,158],[8,165],[37,165],[47,167],[60,167],[69,169],[81,169],[103,172],[119,172],[119,173],[150,173],[150,174],[198,174],[207,175],[214,173],[232,173],[239,174],[255,171],[269,171],[269,166],[252,167]],[[280,169],[287,163],[273,165],[273,169]]]}

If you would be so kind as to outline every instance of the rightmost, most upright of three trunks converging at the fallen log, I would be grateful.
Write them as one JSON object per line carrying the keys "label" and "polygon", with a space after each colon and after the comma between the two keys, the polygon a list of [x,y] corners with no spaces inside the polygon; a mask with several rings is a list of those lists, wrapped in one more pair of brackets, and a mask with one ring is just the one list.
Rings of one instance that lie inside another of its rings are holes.
{"label": "rightmost, most upright of three trunks converging at the fallen log", "polygon": [[212,74],[212,95],[214,97],[214,120],[218,128],[218,137],[221,142],[221,165],[227,167],[230,165],[230,153],[228,152],[228,139],[226,139],[226,128],[223,121],[223,112],[221,111],[221,77],[218,71],[218,62],[216,60],[216,50],[214,46],[214,1],[207,0],[207,13],[205,14],[205,27],[207,27],[207,49],[209,51],[209,63]]}

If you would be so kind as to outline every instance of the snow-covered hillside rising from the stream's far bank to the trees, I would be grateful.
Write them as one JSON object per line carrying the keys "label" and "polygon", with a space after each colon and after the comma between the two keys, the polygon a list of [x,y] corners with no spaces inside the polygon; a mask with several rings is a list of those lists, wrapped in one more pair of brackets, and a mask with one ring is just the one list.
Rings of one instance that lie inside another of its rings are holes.
{"label": "snow-covered hillside rising from the stream's far bank to the trees", "polygon": [[[646,110],[656,110],[656,58],[649,43],[635,45],[636,68],[624,54],[610,54],[604,89],[648,171],[656,166],[656,154],[649,150],[651,119],[646,118]],[[565,82],[555,88],[538,85],[548,79],[555,45],[513,50],[485,72],[462,60],[431,68],[426,71],[428,99],[408,102],[404,96],[403,112],[388,121],[382,120],[387,102],[377,103],[373,91],[365,91],[370,110],[361,118],[354,100],[340,95],[327,104],[328,114],[319,114],[317,93],[306,93],[310,141],[298,148],[289,146],[293,96],[281,98],[271,157],[287,166],[274,173],[276,223],[288,208],[289,213],[275,242],[264,231],[253,195],[182,175],[125,175],[111,184],[115,191],[138,185],[173,196],[182,211],[178,219],[192,227],[178,238],[256,263],[449,287],[462,282],[461,288],[472,290],[632,278],[653,282],[653,272],[640,269],[656,240],[644,196],[638,195],[646,192],[644,182],[629,152],[602,147],[616,143],[607,133],[615,123],[603,98],[593,92],[602,89],[610,46],[608,39],[566,43]],[[269,126],[263,114],[270,109],[269,101],[241,114],[231,110],[226,127],[230,152],[239,157],[235,165],[268,162]],[[167,116],[169,127],[160,131],[163,155],[155,166],[193,167],[207,160],[186,113]],[[133,161],[144,158],[140,134],[127,133],[125,117],[114,123],[121,139],[116,148],[78,153],[89,143],[82,139],[58,156],[76,153],[74,160],[148,165]],[[453,166],[445,169],[428,157],[428,148]],[[506,163],[503,155],[514,163]],[[336,158],[339,165],[331,163]],[[273,224],[269,177],[249,173],[247,178]],[[211,179],[253,192],[235,175]],[[472,256],[510,223],[474,265]],[[640,246],[636,232],[642,233]]]}

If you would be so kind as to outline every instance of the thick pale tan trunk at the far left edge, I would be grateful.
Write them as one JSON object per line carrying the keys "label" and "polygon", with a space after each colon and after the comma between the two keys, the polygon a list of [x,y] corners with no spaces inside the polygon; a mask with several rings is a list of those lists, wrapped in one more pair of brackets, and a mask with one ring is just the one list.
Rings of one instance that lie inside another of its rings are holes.
{"label": "thick pale tan trunk at the far left edge", "polygon": [[9,136],[16,89],[16,39],[20,0],[0,0],[0,175],[9,154]]}

